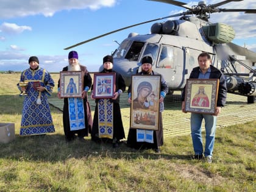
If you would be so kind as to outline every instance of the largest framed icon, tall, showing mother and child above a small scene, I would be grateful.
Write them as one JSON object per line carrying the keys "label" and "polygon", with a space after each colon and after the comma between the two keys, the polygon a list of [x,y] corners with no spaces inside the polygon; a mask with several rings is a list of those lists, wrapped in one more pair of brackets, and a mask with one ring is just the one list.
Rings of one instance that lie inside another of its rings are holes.
{"label": "largest framed icon, tall, showing mother and child above a small scene", "polygon": [[130,127],[158,130],[161,76],[133,75],[131,86]]}

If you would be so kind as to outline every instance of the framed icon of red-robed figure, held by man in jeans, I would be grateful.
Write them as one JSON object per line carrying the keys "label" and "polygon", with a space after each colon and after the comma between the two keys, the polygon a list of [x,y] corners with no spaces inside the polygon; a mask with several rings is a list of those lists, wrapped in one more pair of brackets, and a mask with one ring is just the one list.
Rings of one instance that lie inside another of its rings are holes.
{"label": "framed icon of red-robed figure, held by man in jeans", "polygon": [[214,114],[219,79],[187,79],[185,112]]}

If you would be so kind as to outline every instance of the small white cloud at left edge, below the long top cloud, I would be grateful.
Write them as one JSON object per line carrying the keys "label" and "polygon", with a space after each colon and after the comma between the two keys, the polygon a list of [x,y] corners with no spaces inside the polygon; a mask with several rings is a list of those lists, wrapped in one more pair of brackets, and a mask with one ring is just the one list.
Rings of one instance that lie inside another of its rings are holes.
{"label": "small white cloud at left edge, below the long top cloud", "polygon": [[0,26],[1,32],[7,33],[7,34],[20,34],[24,30],[32,30],[29,26],[18,26],[15,23],[2,23]]}

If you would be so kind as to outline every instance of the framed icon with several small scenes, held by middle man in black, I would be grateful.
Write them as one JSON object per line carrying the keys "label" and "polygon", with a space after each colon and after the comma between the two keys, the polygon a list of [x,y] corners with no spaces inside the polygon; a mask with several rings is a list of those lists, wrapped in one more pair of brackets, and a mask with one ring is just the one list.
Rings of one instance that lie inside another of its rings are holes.
{"label": "framed icon with several small scenes, held by middle man in black", "polygon": [[93,98],[113,98],[115,94],[115,73],[94,73]]}

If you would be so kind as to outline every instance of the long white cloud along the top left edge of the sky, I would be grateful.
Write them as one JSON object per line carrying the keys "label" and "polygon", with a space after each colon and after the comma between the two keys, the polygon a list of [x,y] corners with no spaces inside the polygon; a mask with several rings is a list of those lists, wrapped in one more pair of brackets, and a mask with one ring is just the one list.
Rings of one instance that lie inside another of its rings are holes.
{"label": "long white cloud along the top left edge of the sky", "polygon": [[116,0],[0,0],[0,18],[16,18],[29,15],[52,16],[60,10],[112,7]]}

